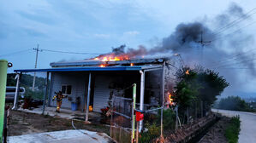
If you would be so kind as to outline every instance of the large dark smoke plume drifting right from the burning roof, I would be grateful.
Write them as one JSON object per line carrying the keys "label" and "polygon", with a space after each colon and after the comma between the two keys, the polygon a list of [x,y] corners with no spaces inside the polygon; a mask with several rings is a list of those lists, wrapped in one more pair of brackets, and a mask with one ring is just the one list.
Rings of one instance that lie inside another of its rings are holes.
{"label": "large dark smoke plume drifting right from the burning roof", "polygon": [[[128,49],[128,53],[147,54],[149,57],[169,54],[172,58],[173,54],[182,55],[187,66],[200,65],[220,72],[230,83],[226,94],[234,94],[242,88],[242,84],[246,84],[241,82],[242,75],[255,75],[256,72],[254,54],[247,53],[253,48],[254,37],[241,28],[248,22],[249,15],[240,6],[231,3],[229,9],[214,19],[179,24],[158,46],[152,49],[140,46],[139,49]],[[239,68],[249,71],[241,74],[241,70],[237,70]]]}

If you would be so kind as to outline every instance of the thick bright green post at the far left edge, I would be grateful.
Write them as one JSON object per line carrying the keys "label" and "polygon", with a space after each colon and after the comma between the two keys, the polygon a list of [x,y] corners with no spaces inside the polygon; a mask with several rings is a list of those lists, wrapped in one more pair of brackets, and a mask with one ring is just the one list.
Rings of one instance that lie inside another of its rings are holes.
{"label": "thick bright green post at the far left edge", "polygon": [[0,142],[3,141],[3,120],[5,107],[5,92],[7,80],[7,60],[0,60]]}

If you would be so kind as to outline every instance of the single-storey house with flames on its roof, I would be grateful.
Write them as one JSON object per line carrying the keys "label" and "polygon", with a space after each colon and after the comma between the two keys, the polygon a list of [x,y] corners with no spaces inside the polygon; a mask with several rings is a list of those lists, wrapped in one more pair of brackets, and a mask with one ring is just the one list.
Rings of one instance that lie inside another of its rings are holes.
{"label": "single-storey house with flames on its roof", "polygon": [[[114,49],[113,49],[114,51]],[[116,54],[117,53],[117,54]],[[135,55],[135,54],[134,54]],[[53,62],[48,69],[15,70],[24,72],[47,72],[44,106],[57,106],[52,101],[55,92],[62,91],[68,98],[63,100],[63,108],[93,112],[109,106],[113,95],[132,98],[132,84],[137,84],[137,105],[140,110],[161,106],[164,97],[164,71],[170,60],[149,59],[142,55],[134,57],[132,52],[102,54],[89,60],[73,62]],[[19,83],[19,82],[18,82]],[[44,107],[45,108],[45,107]]]}

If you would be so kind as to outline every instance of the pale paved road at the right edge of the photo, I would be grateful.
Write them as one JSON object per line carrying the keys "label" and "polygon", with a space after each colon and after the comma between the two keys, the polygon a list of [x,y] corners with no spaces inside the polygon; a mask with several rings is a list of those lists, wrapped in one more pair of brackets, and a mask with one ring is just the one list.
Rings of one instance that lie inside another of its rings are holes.
{"label": "pale paved road at the right edge of the photo", "polygon": [[[217,112],[217,109],[212,109],[212,112]],[[240,116],[241,131],[239,134],[240,143],[256,142],[256,114],[251,112],[235,112],[227,110],[218,110],[224,116],[233,117]]]}

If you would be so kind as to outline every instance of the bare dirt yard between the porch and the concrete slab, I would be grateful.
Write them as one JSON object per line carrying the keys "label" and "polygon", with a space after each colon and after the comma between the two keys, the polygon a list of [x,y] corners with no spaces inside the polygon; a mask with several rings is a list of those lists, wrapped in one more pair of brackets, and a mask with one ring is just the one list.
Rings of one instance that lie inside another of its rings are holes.
{"label": "bare dirt yard between the porch and the concrete slab", "polygon": [[[103,124],[85,124],[74,120],[76,129],[109,134],[110,127]],[[28,112],[10,111],[9,136],[73,129],[71,120]]]}

